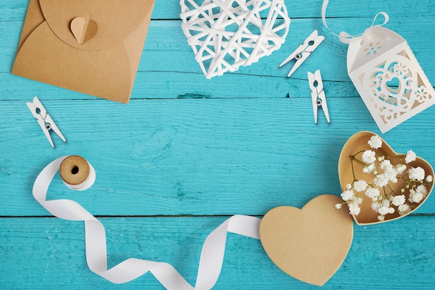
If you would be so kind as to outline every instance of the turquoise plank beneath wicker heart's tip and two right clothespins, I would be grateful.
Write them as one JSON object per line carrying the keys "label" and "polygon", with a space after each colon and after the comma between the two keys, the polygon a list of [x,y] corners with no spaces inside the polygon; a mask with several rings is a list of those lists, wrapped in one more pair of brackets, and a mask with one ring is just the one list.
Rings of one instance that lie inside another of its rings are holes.
{"label": "turquoise plank beneath wicker heart's tip and two right clothespins", "polygon": [[[347,20],[352,22],[355,33],[363,31],[371,22],[369,18]],[[331,25],[347,20],[331,19]],[[224,74],[224,76],[211,80],[204,77],[199,65],[195,62],[193,53],[181,31],[180,21],[151,22],[131,98],[309,97],[306,72],[316,69],[322,70],[325,91],[329,97],[358,96],[347,76],[347,45],[341,44],[330,34],[325,43],[321,44],[291,78],[286,78],[291,64],[282,68],[278,67],[311,33],[313,22],[315,28],[328,36],[329,33],[322,28],[320,19],[295,19],[292,22],[286,44],[279,51],[266,58],[261,58],[254,65],[242,67],[234,73]],[[431,48],[435,44],[435,31],[416,33],[416,31],[425,31],[425,28],[431,25],[432,19],[409,17],[391,20],[388,27],[395,29],[408,40],[427,77],[433,81],[435,80],[435,69],[432,64],[435,62],[435,54]],[[56,99],[95,99],[93,96],[10,74],[21,26],[20,22],[0,22],[0,34],[6,37],[6,40],[0,41],[0,63],[2,64],[0,66],[0,87],[2,88],[0,99],[25,101],[35,95],[53,95]]]}

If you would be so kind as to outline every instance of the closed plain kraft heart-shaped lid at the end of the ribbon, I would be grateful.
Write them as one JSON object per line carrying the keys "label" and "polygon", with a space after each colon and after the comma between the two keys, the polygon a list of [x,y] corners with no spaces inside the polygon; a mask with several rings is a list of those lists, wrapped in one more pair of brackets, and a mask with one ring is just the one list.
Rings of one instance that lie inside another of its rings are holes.
{"label": "closed plain kraft heart-shaped lid at the end of the ribbon", "polygon": [[302,209],[270,210],[260,224],[260,239],[272,262],[288,275],[322,286],[336,273],[354,235],[347,210],[337,210],[334,195],[313,198]]}

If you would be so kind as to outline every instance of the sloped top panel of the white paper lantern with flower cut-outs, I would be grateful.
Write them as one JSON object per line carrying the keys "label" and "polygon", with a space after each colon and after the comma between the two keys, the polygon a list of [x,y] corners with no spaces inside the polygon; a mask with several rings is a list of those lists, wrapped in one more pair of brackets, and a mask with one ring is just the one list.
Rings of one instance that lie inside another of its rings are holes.
{"label": "sloped top panel of the white paper lantern with flower cut-outs", "polygon": [[381,26],[374,26],[364,31],[363,35],[356,37],[349,44],[347,50],[347,71],[352,73],[368,62],[388,53],[397,45],[406,42],[404,38],[394,31]]}

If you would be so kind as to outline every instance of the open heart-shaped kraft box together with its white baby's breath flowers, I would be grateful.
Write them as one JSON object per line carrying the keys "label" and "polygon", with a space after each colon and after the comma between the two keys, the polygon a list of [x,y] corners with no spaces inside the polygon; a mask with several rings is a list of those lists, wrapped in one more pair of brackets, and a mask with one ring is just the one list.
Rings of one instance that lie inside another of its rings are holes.
{"label": "open heart-shaped kraft box together with its white baby's breath flowers", "polygon": [[[370,139],[376,140],[377,144],[368,144]],[[379,144],[381,146],[376,148]],[[363,157],[363,154],[366,156]],[[415,153],[409,151],[409,154]],[[420,157],[410,158],[413,161],[406,159],[407,154],[395,153],[381,137],[372,132],[359,132],[347,140],[338,160],[338,177],[343,190],[342,197],[347,200],[347,205],[359,207],[356,209],[357,214],[352,214],[358,225],[393,221],[407,216],[425,203],[434,187],[434,169]],[[371,161],[373,167],[370,167]],[[402,169],[398,164],[401,164]],[[410,194],[420,196],[410,197]],[[379,206],[384,208],[381,210]]]}

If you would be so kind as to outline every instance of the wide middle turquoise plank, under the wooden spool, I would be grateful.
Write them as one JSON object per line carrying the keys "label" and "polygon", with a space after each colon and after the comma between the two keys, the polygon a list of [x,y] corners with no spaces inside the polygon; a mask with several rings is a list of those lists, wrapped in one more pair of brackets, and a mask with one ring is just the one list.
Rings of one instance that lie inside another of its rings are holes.
{"label": "wide middle turquoise plank, under the wooden spool", "polygon": [[[178,99],[49,101],[42,99],[67,143],[52,149],[22,101],[0,102],[13,123],[0,127],[0,180],[9,198],[1,215],[45,212],[31,196],[51,160],[82,155],[97,171],[92,189],[72,192],[57,178],[50,198],[73,198],[98,215],[264,214],[301,207],[318,194],[339,194],[337,162],[360,130],[379,133],[359,98],[328,100],[331,123],[311,100]],[[383,137],[435,164],[435,108]],[[19,208],[19,210],[17,210]],[[429,198],[419,213],[435,213]]]}

